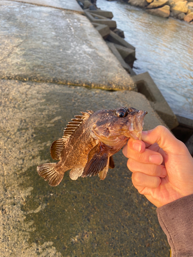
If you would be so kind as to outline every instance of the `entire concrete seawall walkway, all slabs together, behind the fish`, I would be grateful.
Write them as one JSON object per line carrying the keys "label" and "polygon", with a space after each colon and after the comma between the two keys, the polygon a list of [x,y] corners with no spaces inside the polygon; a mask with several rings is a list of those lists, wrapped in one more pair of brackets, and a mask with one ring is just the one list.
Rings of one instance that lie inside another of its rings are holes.
{"label": "entire concrete seawall walkway, all slabs together, behind the fish", "polygon": [[169,255],[155,207],[132,186],[121,151],[104,181],[66,172],[52,188],[36,171],[80,111],[132,106],[148,112],[145,130],[166,125],[151,89],[137,92],[141,79],[75,0],[3,0],[0,14],[1,256]]}

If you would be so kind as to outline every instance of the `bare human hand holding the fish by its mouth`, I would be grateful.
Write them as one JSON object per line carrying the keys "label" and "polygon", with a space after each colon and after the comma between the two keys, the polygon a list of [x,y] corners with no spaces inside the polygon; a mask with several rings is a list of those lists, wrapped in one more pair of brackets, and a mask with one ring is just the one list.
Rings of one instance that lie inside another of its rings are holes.
{"label": "bare human hand holding the fish by its mouth", "polygon": [[139,193],[161,207],[193,193],[193,159],[185,144],[164,126],[130,138],[122,152]]}

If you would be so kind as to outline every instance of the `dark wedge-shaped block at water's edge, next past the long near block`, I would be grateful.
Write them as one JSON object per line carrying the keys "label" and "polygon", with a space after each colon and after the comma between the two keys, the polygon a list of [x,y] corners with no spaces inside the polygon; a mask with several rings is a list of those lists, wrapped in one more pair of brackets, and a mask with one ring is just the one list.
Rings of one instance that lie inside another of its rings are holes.
{"label": "dark wedge-shaped block at water's edge, next past the long near block", "polygon": [[136,60],[135,58],[135,50],[127,48],[125,46],[120,46],[117,44],[114,44],[118,52],[120,53],[121,57],[124,59],[124,61],[129,64],[129,66],[133,67],[133,63]]}

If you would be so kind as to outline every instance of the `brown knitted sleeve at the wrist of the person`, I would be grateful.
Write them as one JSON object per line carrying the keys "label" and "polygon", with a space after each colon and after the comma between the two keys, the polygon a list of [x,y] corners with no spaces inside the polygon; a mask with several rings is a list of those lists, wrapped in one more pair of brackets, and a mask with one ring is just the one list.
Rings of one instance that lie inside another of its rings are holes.
{"label": "brown knitted sleeve at the wrist of the person", "polygon": [[172,257],[193,256],[193,194],[172,201],[156,210],[167,235]]}

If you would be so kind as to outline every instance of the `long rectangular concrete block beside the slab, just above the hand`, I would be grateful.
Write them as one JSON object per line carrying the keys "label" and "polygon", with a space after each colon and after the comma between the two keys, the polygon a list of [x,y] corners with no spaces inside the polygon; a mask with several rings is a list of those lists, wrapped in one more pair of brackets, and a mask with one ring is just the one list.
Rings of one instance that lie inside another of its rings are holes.
{"label": "long rectangular concrete block beside the slab, just above the hand", "polygon": [[148,72],[133,76],[139,93],[142,93],[150,101],[156,113],[160,115],[170,130],[179,125],[176,115],[169,107],[160,90],[155,85]]}

